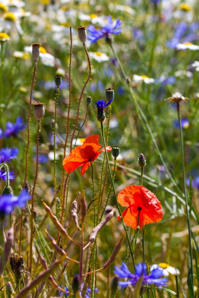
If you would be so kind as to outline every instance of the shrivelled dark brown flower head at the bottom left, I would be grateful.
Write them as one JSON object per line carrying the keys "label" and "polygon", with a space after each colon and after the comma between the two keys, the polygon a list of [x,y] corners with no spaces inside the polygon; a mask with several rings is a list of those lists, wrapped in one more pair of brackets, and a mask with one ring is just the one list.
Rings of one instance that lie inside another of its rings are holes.
{"label": "shrivelled dark brown flower head at the bottom left", "polygon": [[22,254],[20,256],[13,252],[10,256],[10,266],[15,274],[16,285],[19,284],[19,280],[22,277],[22,273],[24,271],[24,258]]}

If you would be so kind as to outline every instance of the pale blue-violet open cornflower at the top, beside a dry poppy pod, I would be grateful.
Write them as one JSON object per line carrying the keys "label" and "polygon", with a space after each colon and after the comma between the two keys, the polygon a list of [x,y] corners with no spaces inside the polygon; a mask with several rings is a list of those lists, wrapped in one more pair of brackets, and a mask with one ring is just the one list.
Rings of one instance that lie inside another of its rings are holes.
{"label": "pale blue-violet open cornflower at the top, beside a dry poppy pod", "polygon": [[107,17],[108,23],[100,30],[95,29],[94,26],[89,25],[87,28],[87,31],[89,33],[88,40],[94,44],[98,39],[100,38],[107,38],[107,40],[110,39],[111,34],[119,34],[122,32],[121,30],[121,24],[123,23],[120,19],[117,18],[115,24],[112,21],[111,16],[109,15]]}

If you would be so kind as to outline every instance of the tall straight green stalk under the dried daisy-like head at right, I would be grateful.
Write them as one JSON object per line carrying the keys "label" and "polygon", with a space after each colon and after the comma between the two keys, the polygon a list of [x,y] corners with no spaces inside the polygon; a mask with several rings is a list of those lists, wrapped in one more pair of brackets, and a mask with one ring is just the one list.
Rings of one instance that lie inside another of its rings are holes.
{"label": "tall straight green stalk under the dried daisy-like head at right", "polygon": [[181,142],[181,157],[182,157],[182,175],[183,175],[183,191],[184,191],[185,206],[186,206],[187,225],[188,225],[188,231],[189,231],[189,253],[190,253],[190,263],[191,263],[191,278],[192,278],[192,285],[193,285],[193,261],[192,261],[193,260],[193,256],[192,256],[192,246],[191,246],[191,227],[190,227],[188,199],[187,199],[187,192],[186,192],[186,177],[185,177],[185,167],[184,167],[183,132],[182,132],[182,125],[181,125],[179,103],[177,103],[177,112],[178,112],[178,122],[179,122],[179,127],[180,127],[180,142]]}

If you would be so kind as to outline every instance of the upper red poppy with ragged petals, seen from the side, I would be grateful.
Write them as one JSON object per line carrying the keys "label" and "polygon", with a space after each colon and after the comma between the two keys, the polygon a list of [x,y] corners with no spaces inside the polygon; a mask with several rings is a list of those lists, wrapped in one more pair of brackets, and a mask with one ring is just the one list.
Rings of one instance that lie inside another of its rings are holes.
{"label": "upper red poppy with ragged petals, seen from the side", "polygon": [[[98,134],[88,136],[84,143],[73,149],[68,156],[63,160],[63,166],[67,173],[72,173],[77,167],[81,167],[81,176],[84,175],[86,170],[90,167],[90,161],[93,162],[100,153],[104,152],[105,149],[101,149],[99,144]],[[106,147],[107,151],[112,148]],[[99,150],[99,151],[98,151]]]}

